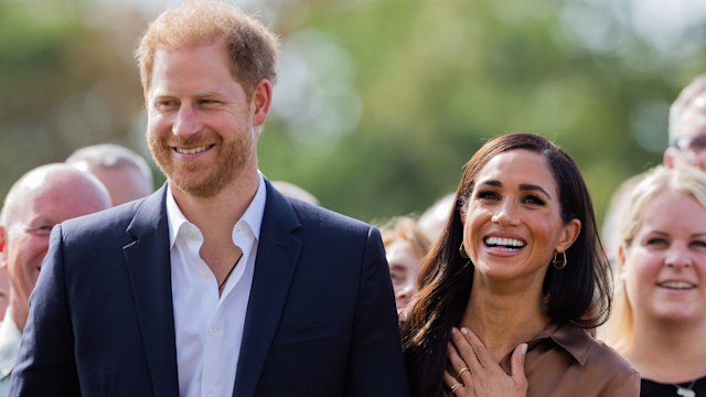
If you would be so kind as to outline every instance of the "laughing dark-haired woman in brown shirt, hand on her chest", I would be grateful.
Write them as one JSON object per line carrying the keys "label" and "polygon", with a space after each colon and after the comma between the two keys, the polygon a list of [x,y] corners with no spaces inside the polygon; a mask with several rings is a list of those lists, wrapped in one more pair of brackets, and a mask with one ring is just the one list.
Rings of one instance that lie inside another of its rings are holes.
{"label": "laughing dark-haired woman in brown shirt, hand on her chest", "polygon": [[402,333],[415,396],[637,396],[640,376],[592,336],[610,268],[584,179],[532,133],[488,141],[425,258]]}

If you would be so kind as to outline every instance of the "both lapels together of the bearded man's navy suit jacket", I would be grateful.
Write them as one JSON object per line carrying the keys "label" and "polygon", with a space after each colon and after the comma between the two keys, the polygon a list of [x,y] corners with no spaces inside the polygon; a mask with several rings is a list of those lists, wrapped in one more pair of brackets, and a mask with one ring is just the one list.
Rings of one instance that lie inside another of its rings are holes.
{"label": "both lapels together of the bearded man's navy suit jacket", "polygon": [[[255,395],[295,273],[302,242],[297,214],[265,180],[267,202],[245,318],[234,396]],[[142,201],[127,228],[135,242],[124,247],[157,396],[179,395],[172,307],[169,226],[162,186]]]}

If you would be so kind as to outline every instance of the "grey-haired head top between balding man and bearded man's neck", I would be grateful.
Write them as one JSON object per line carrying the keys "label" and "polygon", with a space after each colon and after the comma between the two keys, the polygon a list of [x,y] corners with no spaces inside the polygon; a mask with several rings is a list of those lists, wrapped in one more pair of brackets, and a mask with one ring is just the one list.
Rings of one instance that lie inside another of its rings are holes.
{"label": "grey-haired head top between balding man and bearded man's neck", "polygon": [[119,144],[84,147],[73,152],[65,162],[96,175],[108,189],[113,205],[148,196],[154,191],[152,171],[147,161]]}

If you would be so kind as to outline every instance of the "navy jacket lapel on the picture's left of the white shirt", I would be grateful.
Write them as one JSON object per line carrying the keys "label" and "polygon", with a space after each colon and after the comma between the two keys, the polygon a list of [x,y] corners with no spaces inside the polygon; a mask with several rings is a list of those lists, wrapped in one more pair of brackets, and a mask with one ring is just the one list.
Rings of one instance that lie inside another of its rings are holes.
{"label": "navy jacket lapel on the picture's left of the white shirt", "polygon": [[165,194],[163,186],[141,203],[127,228],[135,242],[122,249],[154,395],[178,396]]}

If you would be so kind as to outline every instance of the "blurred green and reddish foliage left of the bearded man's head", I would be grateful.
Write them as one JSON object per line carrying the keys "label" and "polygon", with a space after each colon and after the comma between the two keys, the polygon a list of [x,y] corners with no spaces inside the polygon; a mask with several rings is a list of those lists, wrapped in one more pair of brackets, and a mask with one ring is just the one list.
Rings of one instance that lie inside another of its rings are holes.
{"label": "blurred green and reddish foliage left of the bearded man's head", "polygon": [[[131,56],[118,56],[114,32],[90,25],[90,17],[79,1],[0,2],[3,196],[29,169],[63,161],[81,146],[113,141],[135,147],[130,137],[141,109],[139,77]],[[128,17],[111,22],[142,29],[141,13]]]}

